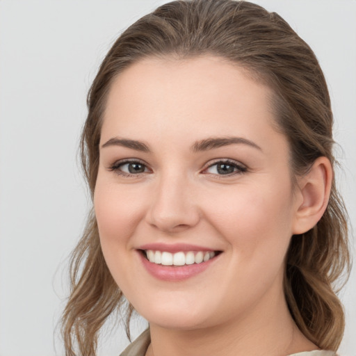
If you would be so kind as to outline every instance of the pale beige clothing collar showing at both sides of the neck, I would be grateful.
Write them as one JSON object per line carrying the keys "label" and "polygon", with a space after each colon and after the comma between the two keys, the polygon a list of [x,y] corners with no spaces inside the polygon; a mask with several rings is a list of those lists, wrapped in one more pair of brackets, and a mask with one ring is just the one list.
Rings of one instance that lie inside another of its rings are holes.
{"label": "pale beige clothing collar showing at both sides of the neck", "polygon": [[[149,337],[149,329],[147,329],[135,341],[130,343],[120,356],[145,356],[149,343],[151,343],[151,338]],[[337,354],[334,351],[315,350],[305,353],[293,353],[293,355],[288,356],[337,356]]]}

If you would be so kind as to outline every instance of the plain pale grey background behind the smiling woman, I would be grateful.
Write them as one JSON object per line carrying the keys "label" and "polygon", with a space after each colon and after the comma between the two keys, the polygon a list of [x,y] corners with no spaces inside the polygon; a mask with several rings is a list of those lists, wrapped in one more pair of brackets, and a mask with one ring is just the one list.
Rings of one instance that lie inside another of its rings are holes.
{"label": "plain pale grey background behind the smiling woman", "polygon": [[[88,211],[76,163],[86,92],[118,34],[165,2],[0,0],[1,356],[63,355],[54,334],[67,293],[63,270]],[[356,1],[255,2],[280,13],[320,60],[342,147],[339,186],[355,224]],[[341,298],[347,328],[339,351],[355,356],[355,272]],[[133,335],[144,325],[134,321]],[[119,355],[127,343],[119,329],[99,355]]]}

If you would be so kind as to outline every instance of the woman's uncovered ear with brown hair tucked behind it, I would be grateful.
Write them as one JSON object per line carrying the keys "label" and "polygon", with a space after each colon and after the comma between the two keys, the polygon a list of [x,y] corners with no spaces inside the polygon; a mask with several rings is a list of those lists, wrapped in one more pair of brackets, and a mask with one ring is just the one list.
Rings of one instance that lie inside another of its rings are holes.
{"label": "woman's uncovered ear with brown hair tucked behind it", "polygon": [[293,234],[312,229],[323,216],[330,197],[332,165],[326,157],[319,157],[306,175],[298,178],[298,199]]}

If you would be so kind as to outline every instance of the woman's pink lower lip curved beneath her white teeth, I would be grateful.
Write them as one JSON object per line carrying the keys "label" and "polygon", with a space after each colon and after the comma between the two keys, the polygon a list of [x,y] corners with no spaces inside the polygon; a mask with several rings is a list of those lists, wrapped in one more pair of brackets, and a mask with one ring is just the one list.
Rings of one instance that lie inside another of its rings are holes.
{"label": "woman's pink lower lip curved beneath her white teeth", "polygon": [[145,266],[147,272],[158,280],[170,281],[170,282],[179,282],[187,280],[199,273],[202,273],[204,270],[209,268],[216,259],[220,256],[213,257],[209,261],[202,262],[201,264],[190,264],[185,266],[163,266],[162,264],[153,264],[143,256],[143,253],[138,251],[140,259]]}

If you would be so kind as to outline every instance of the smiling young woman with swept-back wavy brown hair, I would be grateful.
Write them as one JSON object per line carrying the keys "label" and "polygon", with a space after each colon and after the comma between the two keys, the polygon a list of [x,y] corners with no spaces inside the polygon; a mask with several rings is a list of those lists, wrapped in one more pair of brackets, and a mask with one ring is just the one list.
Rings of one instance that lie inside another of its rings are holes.
{"label": "smiling young woman with swept-back wavy brown hair", "polygon": [[174,1],[113,44],[81,141],[94,209],[72,257],[67,355],[336,355],[348,270],[332,112],[308,45],[249,2]]}

